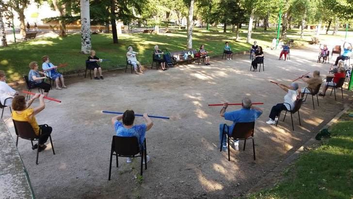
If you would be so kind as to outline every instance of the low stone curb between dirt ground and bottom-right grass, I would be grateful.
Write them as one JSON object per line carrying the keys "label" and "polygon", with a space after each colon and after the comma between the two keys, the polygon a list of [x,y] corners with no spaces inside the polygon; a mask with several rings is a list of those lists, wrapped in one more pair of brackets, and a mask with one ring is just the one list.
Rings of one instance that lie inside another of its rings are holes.
{"label": "low stone curb between dirt ground and bottom-right grass", "polygon": [[[332,118],[325,126],[323,126],[321,130],[327,129],[333,124],[337,123],[339,117],[341,117],[344,113],[346,113],[351,107],[348,106],[345,109],[343,109],[341,112],[339,112],[334,118]],[[311,137],[308,141],[304,143],[303,146],[301,146],[299,149],[297,149],[293,154],[291,154],[289,157],[287,157],[284,161],[282,161],[278,166],[276,166],[273,170],[269,171],[267,175],[262,177],[262,179],[257,182],[250,190],[247,191],[246,195],[252,194],[254,192],[257,192],[261,189],[267,188],[267,187],[273,187],[274,184],[277,182],[277,178],[282,176],[282,172],[284,169],[286,169],[289,164],[291,164],[294,160],[296,160],[299,155],[307,148],[308,146],[311,146],[313,144],[320,143],[321,141],[318,141],[315,139],[316,134]],[[269,180],[271,179],[271,180]]]}

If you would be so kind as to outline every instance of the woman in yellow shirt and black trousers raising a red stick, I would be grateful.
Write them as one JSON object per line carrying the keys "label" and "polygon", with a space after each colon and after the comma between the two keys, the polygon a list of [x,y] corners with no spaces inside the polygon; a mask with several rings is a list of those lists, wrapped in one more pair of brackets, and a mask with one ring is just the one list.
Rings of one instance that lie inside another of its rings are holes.
{"label": "woman in yellow shirt and black trousers raising a red stick", "polygon": [[[48,137],[52,131],[52,128],[48,125],[38,125],[37,121],[35,120],[35,115],[41,112],[45,108],[45,103],[43,100],[44,95],[36,93],[32,99],[26,102],[24,96],[16,96],[12,100],[12,108],[14,111],[12,112],[12,119],[16,121],[26,121],[31,124],[34,133],[38,136],[39,139],[39,152],[47,148],[45,143],[48,140]],[[30,108],[34,99],[39,98],[39,106],[35,108]],[[39,135],[39,129],[41,134]],[[37,149],[38,145],[35,144],[32,149]]]}

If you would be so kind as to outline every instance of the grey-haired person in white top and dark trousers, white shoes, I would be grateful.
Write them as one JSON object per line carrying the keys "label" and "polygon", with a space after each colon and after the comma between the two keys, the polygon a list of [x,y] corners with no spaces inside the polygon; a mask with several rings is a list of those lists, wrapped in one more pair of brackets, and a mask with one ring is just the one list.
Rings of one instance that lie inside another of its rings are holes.
{"label": "grey-haired person in white top and dark trousers, white shoes", "polygon": [[270,120],[267,121],[267,124],[276,124],[279,114],[281,111],[288,110],[291,111],[294,109],[295,101],[299,99],[298,83],[291,83],[290,86],[277,83],[277,85],[287,92],[287,95],[284,96],[284,103],[278,103],[272,107],[270,113]]}

